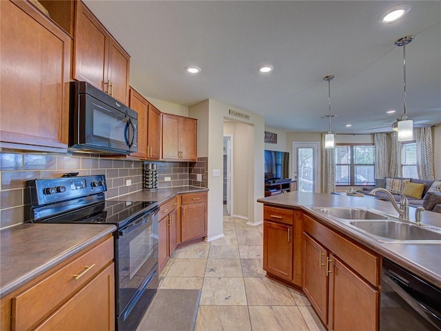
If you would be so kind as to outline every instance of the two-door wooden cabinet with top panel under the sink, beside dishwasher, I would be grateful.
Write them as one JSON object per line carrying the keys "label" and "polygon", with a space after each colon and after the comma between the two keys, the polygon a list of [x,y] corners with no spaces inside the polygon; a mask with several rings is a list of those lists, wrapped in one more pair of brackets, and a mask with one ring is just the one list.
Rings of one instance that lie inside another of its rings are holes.
{"label": "two-door wooden cabinet with top panel under the sink, beside dishwasher", "polygon": [[379,257],[307,215],[304,221],[302,290],[322,322],[328,330],[378,330]]}

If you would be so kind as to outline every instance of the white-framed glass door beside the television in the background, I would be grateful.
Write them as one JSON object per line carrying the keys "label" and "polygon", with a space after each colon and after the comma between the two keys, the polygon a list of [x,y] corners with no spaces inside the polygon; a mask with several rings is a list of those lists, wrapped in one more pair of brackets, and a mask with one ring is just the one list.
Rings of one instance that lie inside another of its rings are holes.
{"label": "white-framed glass door beside the television in the background", "polygon": [[318,142],[292,143],[293,179],[298,191],[319,192],[318,146]]}

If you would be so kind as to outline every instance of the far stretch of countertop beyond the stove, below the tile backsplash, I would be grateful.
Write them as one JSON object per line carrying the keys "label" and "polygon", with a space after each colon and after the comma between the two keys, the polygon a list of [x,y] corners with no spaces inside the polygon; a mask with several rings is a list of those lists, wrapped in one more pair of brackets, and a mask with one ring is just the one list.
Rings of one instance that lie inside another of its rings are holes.
{"label": "far stretch of countertop beyond the stove, below the tile backsplash", "polygon": [[116,197],[110,200],[119,201],[158,201],[159,204],[167,201],[177,194],[206,192],[208,188],[200,188],[198,186],[177,186],[174,188],[158,188],[158,190],[142,190],[130,194]]}

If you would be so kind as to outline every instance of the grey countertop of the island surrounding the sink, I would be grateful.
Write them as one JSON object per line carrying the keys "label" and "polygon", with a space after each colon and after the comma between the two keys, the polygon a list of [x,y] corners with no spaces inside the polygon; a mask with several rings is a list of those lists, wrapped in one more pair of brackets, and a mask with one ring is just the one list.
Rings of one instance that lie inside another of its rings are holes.
{"label": "grey countertop of the island surrounding the sink", "polygon": [[[309,192],[289,192],[272,197],[265,197],[258,202],[280,207],[296,208],[311,214],[330,228],[345,234],[347,237],[362,243],[367,248],[378,252],[382,257],[402,265],[402,267],[418,274],[433,285],[441,288],[441,244],[440,243],[382,243],[311,208],[327,207],[368,207],[387,212],[398,217],[398,213],[388,201],[370,199],[369,197],[347,197],[338,194],[322,194]],[[416,208],[409,208],[410,221],[415,221]],[[441,214],[422,212],[422,223],[441,227]]]}

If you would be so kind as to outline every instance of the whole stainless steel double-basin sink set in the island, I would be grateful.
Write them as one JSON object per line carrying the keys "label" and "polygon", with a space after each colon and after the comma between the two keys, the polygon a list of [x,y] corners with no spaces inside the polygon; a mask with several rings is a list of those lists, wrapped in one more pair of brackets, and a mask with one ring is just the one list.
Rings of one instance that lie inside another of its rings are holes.
{"label": "whole stainless steel double-basin sink set in the island", "polygon": [[441,243],[441,228],[417,225],[371,208],[312,208],[384,243]]}

